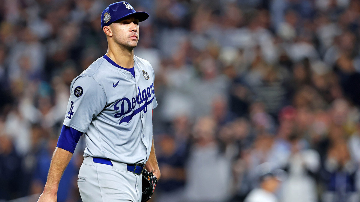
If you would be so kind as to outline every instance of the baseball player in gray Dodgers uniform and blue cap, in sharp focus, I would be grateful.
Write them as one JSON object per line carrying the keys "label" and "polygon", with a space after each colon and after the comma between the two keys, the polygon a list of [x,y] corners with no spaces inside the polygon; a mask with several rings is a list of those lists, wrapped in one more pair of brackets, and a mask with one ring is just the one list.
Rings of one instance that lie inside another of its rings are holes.
{"label": "baseball player in gray Dodgers uniform and blue cap, in sharp focus", "polygon": [[[108,51],[71,83],[64,125],[39,201],[57,201],[61,175],[82,134],[86,148],[77,182],[82,201],[141,202],[143,180],[147,193],[153,193],[160,178],[152,133],[154,71],[133,50],[139,22],[148,17],[125,1],[103,11]],[[143,179],[144,168],[150,174]]]}

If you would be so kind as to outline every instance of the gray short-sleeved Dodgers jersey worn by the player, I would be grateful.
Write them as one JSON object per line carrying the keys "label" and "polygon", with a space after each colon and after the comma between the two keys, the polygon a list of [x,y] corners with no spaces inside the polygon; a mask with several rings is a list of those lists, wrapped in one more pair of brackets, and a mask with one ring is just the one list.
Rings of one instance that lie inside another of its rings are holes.
{"label": "gray short-sleeved Dodgers jersey worn by the player", "polygon": [[64,125],[84,133],[84,157],[145,164],[157,106],[154,71],[137,56],[135,78],[111,62],[101,57],[72,81]]}

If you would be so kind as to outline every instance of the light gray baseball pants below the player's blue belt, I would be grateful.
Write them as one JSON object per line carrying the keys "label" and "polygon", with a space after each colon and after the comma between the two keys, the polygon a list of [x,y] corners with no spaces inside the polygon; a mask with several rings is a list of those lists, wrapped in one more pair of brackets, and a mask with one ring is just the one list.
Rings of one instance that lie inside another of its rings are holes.
{"label": "light gray baseball pants below the player's blue belt", "polygon": [[141,175],[127,171],[124,163],[111,162],[112,166],[84,158],[77,180],[82,201],[141,202]]}

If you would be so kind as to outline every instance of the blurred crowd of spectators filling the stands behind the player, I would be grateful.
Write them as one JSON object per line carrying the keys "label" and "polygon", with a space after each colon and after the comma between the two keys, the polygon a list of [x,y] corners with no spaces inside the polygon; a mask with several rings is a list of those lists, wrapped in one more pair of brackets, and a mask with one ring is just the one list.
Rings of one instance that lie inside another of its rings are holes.
{"label": "blurred crowd of spectators filling the stands behind the player", "polygon": [[[0,201],[42,192],[70,83],[107,50],[111,3],[1,1]],[[360,201],[359,0],[129,3],[150,14],[135,55],[156,74],[152,201]],[[81,201],[84,148],[59,202]]]}

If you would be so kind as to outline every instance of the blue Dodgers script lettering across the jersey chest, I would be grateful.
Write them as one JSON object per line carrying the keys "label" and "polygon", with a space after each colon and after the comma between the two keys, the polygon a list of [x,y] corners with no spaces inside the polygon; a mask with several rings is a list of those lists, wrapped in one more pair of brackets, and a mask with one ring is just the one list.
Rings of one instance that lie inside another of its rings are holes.
{"label": "blue Dodgers script lettering across the jersey chest", "polygon": [[[153,96],[150,99],[150,97],[154,94],[154,84],[152,83],[149,87],[147,87],[146,89],[143,89],[142,91],[140,91],[140,88],[138,87],[138,91],[139,91],[138,95],[136,97],[133,97],[131,99],[131,101],[129,100],[129,98],[124,97],[124,98],[118,100],[117,102],[115,102],[114,110],[118,111],[120,109],[120,112],[116,113],[114,115],[115,118],[119,118],[121,116],[130,114],[130,112],[132,111],[132,113],[130,115],[123,117],[120,120],[119,124],[121,124],[123,122],[129,123],[129,121],[132,119],[132,117],[135,116],[136,114],[138,114],[140,111],[144,111],[144,113],[146,113],[148,111],[148,105],[155,98],[155,96]],[[138,109],[135,109],[136,104],[138,104],[138,105],[143,104],[143,105],[141,105]],[[119,105],[120,105],[120,107],[119,107]],[[135,110],[133,110],[133,109],[135,109]]]}

